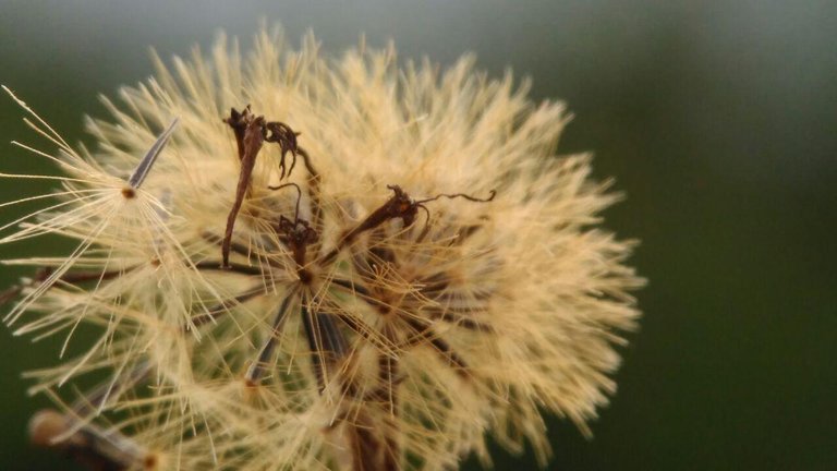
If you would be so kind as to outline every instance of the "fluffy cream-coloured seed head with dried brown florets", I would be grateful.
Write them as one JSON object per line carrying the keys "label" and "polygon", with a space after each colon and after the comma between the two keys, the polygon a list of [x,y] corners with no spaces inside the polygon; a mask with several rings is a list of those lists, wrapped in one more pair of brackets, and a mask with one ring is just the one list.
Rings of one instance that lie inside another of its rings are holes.
{"label": "fluffy cream-coloured seed head with dried brown florets", "polygon": [[5,203],[54,202],[0,243],[77,243],[4,262],[36,267],[7,324],[65,339],[27,374],[57,403],[35,443],[96,469],[437,470],[490,466],[488,436],[545,466],[542,411],[590,434],[642,280],[595,228],[610,182],[555,155],[560,104],[470,58],[279,32],[156,64],[93,152],[19,100],[63,174],[2,176],[61,190]]}

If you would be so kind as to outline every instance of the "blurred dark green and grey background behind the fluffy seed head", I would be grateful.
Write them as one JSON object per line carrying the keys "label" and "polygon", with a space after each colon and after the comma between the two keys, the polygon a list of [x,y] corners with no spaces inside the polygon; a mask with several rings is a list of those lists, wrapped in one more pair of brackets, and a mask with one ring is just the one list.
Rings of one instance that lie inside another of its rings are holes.
{"label": "blurred dark green and grey background behind the fluffy seed head", "polygon": [[[631,263],[650,285],[595,438],[550,421],[550,469],[837,469],[837,2],[7,0],[0,83],[89,142],[82,117],[150,75],[149,46],[186,55],[218,28],[246,45],[259,19],[295,44],[313,28],[330,53],[361,33],[401,58],[475,51],[575,113],[561,152],[594,150],[596,176],[627,193],[607,227],[642,240]],[[22,116],[0,98],[2,171],[39,170],[7,144],[37,142]],[[2,180],[0,197],[45,189]],[[21,274],[0,268],[0,286]],[[47,402],[20,375],[57,353],[0,330],[2,470],[74,469],[25,440]]]}

